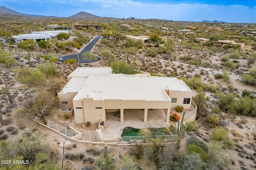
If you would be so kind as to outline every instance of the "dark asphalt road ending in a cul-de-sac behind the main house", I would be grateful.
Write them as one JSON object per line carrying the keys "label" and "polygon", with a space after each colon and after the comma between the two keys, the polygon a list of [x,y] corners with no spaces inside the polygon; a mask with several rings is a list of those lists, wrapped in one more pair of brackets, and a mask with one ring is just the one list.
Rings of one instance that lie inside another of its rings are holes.
{"label": "dark asphalt road ending in a cul-de-sac behind the main house", "polygon": [[[88,60],[84,60],[82,58],[82,53],[86,52],[86,51],[92,51],[93,47],[96,45],[96,43],[98,43],[98,41],[100,40],[102,36],[97,36],[95,37],[90,43],[88,43],[84,49],[82,49],[82,51],[80,51],[80,53],[78,53],[79,55],[79,59],[80,59],[80,63],[89,63]],[[68,59],[76,59],[76,62],[78,62],[78,57],[77,57],[77,54],[71,54],[71,55],[65,55],[65,56],[62,56],[62,59],[64,61],[68,60]],[[101,58],[97,56],[97,61],[100,61]],[[91,63],[93,62],[96,62],[96,61],[91,61]]]}

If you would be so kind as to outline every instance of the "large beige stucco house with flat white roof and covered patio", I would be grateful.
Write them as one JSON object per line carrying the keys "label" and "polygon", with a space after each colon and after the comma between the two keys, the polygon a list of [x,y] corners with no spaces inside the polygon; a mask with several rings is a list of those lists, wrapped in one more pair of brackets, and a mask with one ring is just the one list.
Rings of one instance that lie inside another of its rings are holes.
{"label": "large beige stucco house with flat white roof and covered patio", "polygon": [[190,109],[192,90],[175,77],[158,77],[150,74],[111,74],[110,67],[77,68],[69,82],[58,93],[62,105],[72,107],[76,123],[106,122],[106,114],[120,111],[120,122],[126,121],[126,109],[163,109],[166,122],[170,109],[183,106]]}

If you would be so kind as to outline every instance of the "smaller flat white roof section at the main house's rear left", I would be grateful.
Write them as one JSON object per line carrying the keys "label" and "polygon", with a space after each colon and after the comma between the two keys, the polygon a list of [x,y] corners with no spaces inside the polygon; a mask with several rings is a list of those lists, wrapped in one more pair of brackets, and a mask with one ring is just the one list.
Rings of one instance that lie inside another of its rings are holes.
{"label": "smaller flat white roof section at the main house's rear left", "polygon": [[72,77],[88,77],[89,75],[111,74],[111,67],[78,67],[68,75],[68,80]]}

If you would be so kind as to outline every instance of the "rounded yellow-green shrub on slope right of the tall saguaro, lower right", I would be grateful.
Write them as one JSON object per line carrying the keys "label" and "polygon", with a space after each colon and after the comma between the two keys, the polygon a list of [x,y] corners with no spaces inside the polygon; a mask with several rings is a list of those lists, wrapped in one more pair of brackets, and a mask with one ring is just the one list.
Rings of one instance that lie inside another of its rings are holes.
{"label": "rounded yellow-green shrub on slope right of the tall saguaro, lower right", "polygon": [[235,142],[229,139],[228,131],[223,127],[213,129],[212,133],[209,134],[209,137],[214,141],[222,142],[224,147],[232,148],[235,146]]}

